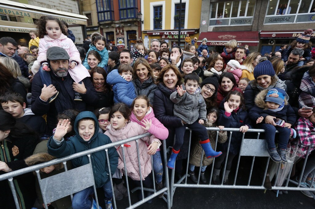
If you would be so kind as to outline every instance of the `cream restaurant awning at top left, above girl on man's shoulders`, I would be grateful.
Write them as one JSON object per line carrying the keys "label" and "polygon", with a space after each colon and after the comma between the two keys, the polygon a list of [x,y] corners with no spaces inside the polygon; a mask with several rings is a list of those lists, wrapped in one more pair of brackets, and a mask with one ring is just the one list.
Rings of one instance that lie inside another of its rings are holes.
{"label": "cream restaurant awning at top left, above girl on man's shoulders", "polygon": [[62,12],[54,9],[37,7],[29,4],[2,0],[0,3],[0,14],[16,16],[19,22],[0,20],[0,31],[28,33],[30,29],[35,29],[33,19],[50,15],[65,21],[69,25],[85,25],[88,19],[84,15]]}

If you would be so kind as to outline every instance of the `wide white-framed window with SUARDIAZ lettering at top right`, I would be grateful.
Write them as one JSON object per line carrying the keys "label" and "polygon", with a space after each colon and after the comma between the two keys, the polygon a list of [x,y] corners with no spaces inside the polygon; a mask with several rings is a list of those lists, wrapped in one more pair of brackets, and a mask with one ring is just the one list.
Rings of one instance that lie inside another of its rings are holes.
{"label": "wide white-framed window with SUARDIAZ lettering at top right", "polygon": [[315,1],[270,0],[265,24],[310,23],[315,21]]}

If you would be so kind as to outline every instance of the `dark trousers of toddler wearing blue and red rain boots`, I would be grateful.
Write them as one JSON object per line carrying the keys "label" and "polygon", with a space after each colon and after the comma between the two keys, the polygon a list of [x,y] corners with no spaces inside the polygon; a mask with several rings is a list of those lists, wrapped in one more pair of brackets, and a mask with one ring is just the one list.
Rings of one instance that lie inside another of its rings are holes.
{"label": "dark trousers of toddler wearing blue and red rain boots", "polygon": [[180,150],[180,147],[184,143],[184,134],[186,131],[186,127],[192,129],[192,131],[196,131],[201,141],[205,141],[209,139],[206,127],[199,124],[198,121],[195,121],[192,124],[184,124],[184,126],[175,128],[176,142],[174,144],[173,149],[175,149],[176,151]]}

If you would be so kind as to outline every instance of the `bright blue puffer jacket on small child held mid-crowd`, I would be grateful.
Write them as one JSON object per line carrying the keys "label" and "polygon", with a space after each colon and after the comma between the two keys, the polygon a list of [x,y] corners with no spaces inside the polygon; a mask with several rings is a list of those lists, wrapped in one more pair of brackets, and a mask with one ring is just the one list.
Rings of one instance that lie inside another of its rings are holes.
{"label": "bright blue puffer jacket on small child held mid-crowd", "polygon": [[106,82],[109,85],[112,85],[114,92],[114,102],[122,102],[128,105],[128,107],[131,107],[132,101],[136,98],[134,84],[131,81],[126,81],[123,79],[119,75],[117,69],[108,73]]}

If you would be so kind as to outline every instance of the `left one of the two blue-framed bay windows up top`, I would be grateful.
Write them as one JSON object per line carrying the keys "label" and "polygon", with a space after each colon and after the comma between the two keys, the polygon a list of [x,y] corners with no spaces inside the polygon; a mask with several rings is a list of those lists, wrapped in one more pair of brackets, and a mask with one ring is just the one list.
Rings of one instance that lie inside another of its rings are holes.
{"label": "left one of the two blue-framed bay windows up top", "polygon": [[99,22],[104,22],[104,21],[109,21],[109,20],[114,19],[112,0],[96,0],[96,9],[97,9],[97,19]]}

